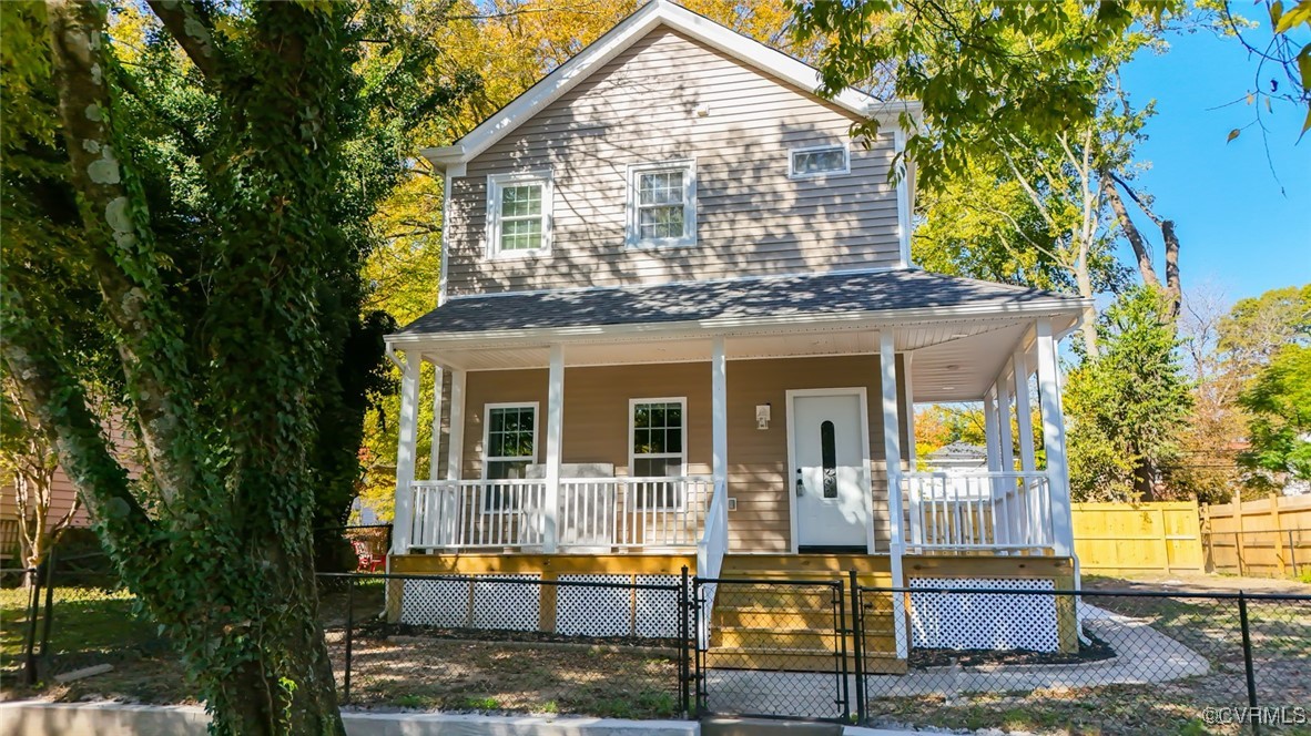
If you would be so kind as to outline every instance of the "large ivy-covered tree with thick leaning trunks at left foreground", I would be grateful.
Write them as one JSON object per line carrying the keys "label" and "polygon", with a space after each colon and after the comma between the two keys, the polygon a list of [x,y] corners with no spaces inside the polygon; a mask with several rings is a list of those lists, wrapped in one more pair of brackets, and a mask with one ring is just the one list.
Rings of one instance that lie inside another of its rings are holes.
{"label": "large ivy-covered tree with thick leaning trunks at left foreground", "polygon": [[392,329],[361,263],[408,128],[467,85],[413,93],[431,48],[388,3],[148,7],[127,47],[102,4],[0,4],[0,355],[214,731],[341,733],[312,529],[349,508]]}

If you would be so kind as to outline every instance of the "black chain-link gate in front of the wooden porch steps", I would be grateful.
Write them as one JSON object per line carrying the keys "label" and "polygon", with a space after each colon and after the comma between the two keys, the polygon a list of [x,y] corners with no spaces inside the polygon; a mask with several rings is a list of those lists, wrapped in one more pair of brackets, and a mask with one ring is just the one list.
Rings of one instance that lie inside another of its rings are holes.
{"label": "black chain-link gate in front of the wooden porch steps", "polygon": [[846,581],[692,580],[696,712],[848,720]]}

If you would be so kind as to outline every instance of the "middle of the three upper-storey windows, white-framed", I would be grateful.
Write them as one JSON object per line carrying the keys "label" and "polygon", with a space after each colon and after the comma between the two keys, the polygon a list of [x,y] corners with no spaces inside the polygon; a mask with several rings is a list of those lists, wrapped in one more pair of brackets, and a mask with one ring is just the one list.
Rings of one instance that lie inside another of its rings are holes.
{"label": "middle of the three upper-storey windows, white-framed", "polygon": [[696,164],[662,161],[628,168],[628,245],[696,244]]}

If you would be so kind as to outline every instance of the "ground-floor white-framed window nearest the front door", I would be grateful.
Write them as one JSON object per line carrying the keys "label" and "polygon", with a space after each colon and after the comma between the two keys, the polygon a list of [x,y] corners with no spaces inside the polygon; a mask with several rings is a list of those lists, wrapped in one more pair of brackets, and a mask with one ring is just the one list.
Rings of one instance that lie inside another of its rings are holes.
{"label": "ground-floor white-framed window nearest the front door", "polygon": [[[637,478],[680,478],[687,468],[687,399],[633,399],[629,415],[629,474]],[[650,482],[638,488],[646,508],[680,508],[682,483]]]}

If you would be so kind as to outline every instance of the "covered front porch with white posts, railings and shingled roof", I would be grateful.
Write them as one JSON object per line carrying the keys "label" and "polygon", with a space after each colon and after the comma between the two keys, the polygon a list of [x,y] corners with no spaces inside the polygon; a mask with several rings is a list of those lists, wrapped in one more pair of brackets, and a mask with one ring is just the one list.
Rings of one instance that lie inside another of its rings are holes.
{"label": "covered front porch with white posts, railings and shingled roof", "polygon": [[[952,291],[871,309],[886,293],[847,293],[847,279],[819,295],[840,301],[805,309],[804,299],[789,299],[796,283],[762,280],[755,288],[781,296],[780,305],[739,287],[713,314],[690,314],[695,320],[671,318],[690,306],[687,288],[671,285],[440,306],[388,340],[402,371],[393,555],[696,553],[696,574],[714,576],[729,551],[826,547],[805,543],[798,526],[804,504],[836,475],[838,486],[860,488],[857,503],[831,516],[860,528],[842,549],[852,551],[855,541],[865,554],[889,555],[898,583],[907,554],[1068,557],[1057,342],[1078,325],[1082,303],[977,282],[968,285],[978,299],[961,300],[961,280],[922,272],[868,274],[857,285],[923,289],[926,278]],[[674,301],[659,312],[653,293]],[[949,296],[958,303],[945,304]],[[627,316],[597,308],[615,299],[632,306]],[[527,313],[513,323],[477,314],[520,300]],[[734,309],[743,301],[754,309]],[[544,313],[543,303],[553,310]],[[429,448],[417,443],[421,361],[437,367]],[[805,448],[793,439],[797,397],[842,393],[857,402],[852,427],[864,447],[851,478],[835,471],[819,444],[813,460],[801,457]],[[985,469],[916,470],[914,406],[947,401],[983,402]],[[1033,402],[1042,469],[1029,426]],[[497,405],[531,411],[507,430]],[[659,427],[635,419],[642,407],[666,411]],[[1002,430],[1012,415],[1019,444]],[[667,445],[637,439],[654,430]],[[531,435],[515,477],[503,477],[497,432],[517,432],[520,443]],[[416,478],[423,449],[430,477]],[[644,471],[653,468],[659,473]]]}

